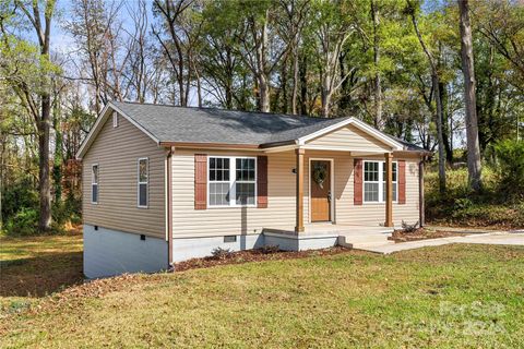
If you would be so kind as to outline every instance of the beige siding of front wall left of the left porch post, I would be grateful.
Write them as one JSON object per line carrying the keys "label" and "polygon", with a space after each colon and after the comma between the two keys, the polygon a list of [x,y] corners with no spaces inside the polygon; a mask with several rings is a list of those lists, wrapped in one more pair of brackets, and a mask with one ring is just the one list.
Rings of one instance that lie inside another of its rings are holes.
{"label": "beige siding of front wall left of the left porch post", "polygon": [[[271,225],[295,226],[295,155],[267,157],[267,208],[209,207],[194,209],[194,154],[257,156],[257,152],[175,149],[172,156],[172,227],[175,237],[260,233]],[[209,160],[209,159],[207,159]],[[233,176],[233,173],[231,173]]]}

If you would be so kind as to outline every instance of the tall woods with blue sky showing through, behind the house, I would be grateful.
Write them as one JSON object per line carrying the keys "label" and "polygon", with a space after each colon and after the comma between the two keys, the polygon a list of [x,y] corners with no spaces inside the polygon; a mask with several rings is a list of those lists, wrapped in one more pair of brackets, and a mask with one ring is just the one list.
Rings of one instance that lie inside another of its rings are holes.
{"label": "tall woods with blue sky showing through, behind the house", "polygon": [[434,153],[434,205],[521,202],[489,179],[522,164],[524,4],[474,4],[0,0],[0,225],[80,221],[74,155],[111,99],[354,116]]}

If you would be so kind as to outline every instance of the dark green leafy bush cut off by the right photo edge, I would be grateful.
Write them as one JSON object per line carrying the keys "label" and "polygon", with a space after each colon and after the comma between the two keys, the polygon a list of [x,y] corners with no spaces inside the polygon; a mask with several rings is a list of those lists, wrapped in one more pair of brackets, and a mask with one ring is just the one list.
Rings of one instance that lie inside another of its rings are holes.
{"label": "dark green leafy bush cut off by the right photo edge", "polygon": [[524,142],[505,140],[495,146],[500,189],[509,197],[524,198]]}

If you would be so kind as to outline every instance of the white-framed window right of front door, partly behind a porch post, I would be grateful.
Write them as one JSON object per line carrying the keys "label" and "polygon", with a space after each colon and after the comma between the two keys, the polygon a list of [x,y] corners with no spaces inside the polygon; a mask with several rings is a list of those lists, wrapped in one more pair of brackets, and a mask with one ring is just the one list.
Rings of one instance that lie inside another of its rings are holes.
{"label": "white-framed window right of front door, partly behind a porch post", "polygon": [[[396,163],[393,168],[393,201],[396,201],[397,174]],[[385,202],[385,161],[364,161],[364,202]]]}

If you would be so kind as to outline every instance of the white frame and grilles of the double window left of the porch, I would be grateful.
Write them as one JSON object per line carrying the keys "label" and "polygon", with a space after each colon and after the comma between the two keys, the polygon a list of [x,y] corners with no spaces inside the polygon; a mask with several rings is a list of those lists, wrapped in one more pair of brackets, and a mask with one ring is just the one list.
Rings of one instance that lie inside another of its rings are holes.
{"label": "white frame and grilles of the double window left of the porch", "polygon": [[[210,188],[212,181],[210,181],[210,166],[212,158],[227,158],[229,159],[229,181],[213,181],[213,183],[229,183],[229,205],[212,205],[210,201]],[[236,188],[236,178],[237,178],[237,159],[253,159],[254,160],[254,181],[238,181],[239,183],[254,183],[254,204],[238,205],[237,204],[237,188]],[[228,208],[228,207],[257,207],[258,201],[258,169],[259,164],[255,156],[223,156],[223,155],[211,155],[207,156],[207,207],[209,208]]]}

